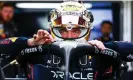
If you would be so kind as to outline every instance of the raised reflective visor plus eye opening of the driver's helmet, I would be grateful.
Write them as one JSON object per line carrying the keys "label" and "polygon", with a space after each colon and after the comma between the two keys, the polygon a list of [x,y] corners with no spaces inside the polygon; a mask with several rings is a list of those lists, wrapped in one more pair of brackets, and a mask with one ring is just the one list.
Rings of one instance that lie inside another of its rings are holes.
{"label": "raised reflective visor plus eye opening of the driver's helmet", "polygon": [[90,27],[80,16],[62,15],[52,21],[52,32],[63,39],[78,39],[87,35]]}

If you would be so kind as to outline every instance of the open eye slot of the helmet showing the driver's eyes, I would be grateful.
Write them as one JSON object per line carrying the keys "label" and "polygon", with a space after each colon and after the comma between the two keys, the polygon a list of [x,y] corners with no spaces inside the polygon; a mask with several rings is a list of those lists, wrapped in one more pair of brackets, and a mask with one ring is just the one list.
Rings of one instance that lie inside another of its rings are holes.
{"label": "open eye slot of the helmet showing the driver's eyes", "polygon": [[52,32],[55,36],[62,39],[78,39],[84,37],[88,33],[88,28],[72,28],[67,29],[65,27],[56,27],[52,28]]}

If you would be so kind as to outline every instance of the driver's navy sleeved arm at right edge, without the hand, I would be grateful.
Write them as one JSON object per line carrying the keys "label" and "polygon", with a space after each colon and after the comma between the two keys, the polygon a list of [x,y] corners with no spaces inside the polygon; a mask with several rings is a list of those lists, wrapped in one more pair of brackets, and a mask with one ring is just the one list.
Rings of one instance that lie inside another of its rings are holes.
{"label": "driver's navy sleeved arm at right edge, without the hand", "polygon": [[133,61],[133,43],[125,41],[112,41],[104,43],[105,47],[120,53],[125,61]]}

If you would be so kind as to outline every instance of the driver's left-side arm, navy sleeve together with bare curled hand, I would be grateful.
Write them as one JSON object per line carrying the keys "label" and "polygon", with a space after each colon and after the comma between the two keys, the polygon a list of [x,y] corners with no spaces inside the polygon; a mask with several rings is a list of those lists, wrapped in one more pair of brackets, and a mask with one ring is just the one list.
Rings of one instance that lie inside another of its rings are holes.
{"label": "driver's left-side arm, navy sleeve together with bare curled hand", "polygon": [[12,37],[0,40],[0,54],[20,52],[23,48],[53,42],[52,36],[45,30],[38,30],[33,38]]}

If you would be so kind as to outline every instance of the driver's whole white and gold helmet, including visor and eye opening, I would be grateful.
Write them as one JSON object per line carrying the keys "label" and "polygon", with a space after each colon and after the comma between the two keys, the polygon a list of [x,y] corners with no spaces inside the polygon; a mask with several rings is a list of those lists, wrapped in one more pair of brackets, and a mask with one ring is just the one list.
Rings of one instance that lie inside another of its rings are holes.
{"label": "driver's whole white and gold helmet, including visor and eye opening", "polygon": [[88,40],[93,15],[78,2],[63,2],[50,12],[50,30],[54,39]]}

